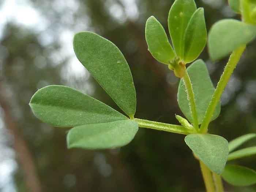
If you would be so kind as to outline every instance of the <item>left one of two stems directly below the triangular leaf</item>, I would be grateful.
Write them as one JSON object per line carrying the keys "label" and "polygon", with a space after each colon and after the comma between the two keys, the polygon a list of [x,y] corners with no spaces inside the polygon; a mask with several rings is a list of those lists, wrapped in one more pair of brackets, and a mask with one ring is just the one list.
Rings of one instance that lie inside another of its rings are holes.
{"label": "left one of two stems directly below the triangular leaf", "polygon": [[207,192],[215,192],[214,182],[212,179],[212,174],[210,169],[202,161],[199,160],[203,179],[204,179],[204,185],[206,187]]}

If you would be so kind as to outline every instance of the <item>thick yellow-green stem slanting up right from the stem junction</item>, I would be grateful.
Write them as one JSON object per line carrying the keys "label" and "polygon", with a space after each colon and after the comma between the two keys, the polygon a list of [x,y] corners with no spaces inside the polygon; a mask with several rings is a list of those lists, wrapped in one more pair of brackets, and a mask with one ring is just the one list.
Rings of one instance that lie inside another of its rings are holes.
{"label": "thick yellow-green stem slanting up right from the stem junction", "polygon": [[212,114],[214,113],[214,109],[216,108],[216,106],[219,102],[219,99],[221,98],[221,94],[224,91],[224,89],[227,85],[227,82],[229,81],[229,78],[230,78],[231,74],[233,73],[234,68],[236,68],[236,65],[237,65],[238,61],[240,60],[240,57],[241,57],[242,53],[244,52],[244,50],[245,50],[245,45],[240,46],[239,48],[234,50],[233,53],[230,55],[229,61],[227,62],[224,72],[221,75],[221,79],[219,80],[216,90],[215,90],[214,94],[212,95],[211,102],[208,105],[203,123],[200,127],[200,131],[202,133],[207,133],[208,125],[210,123]]}

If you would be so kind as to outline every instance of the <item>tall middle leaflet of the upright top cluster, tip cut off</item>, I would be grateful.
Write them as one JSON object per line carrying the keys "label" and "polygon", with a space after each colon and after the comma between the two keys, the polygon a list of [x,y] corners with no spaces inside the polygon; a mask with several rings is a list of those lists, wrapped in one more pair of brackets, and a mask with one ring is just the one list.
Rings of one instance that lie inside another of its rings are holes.
{"label": "tall middle leaflet of the upright top cluster, tip cut off", "polygon": [[194,0],[175,0],[168,15],[168,27],[176,54],[183,59],[184,34],[188,22],[196,11]]}

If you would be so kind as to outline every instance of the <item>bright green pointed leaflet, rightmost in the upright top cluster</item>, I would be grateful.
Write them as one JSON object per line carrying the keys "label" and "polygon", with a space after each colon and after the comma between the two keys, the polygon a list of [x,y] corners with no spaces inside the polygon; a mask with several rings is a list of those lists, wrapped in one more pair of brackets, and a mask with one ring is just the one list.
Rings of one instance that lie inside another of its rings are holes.
{"label": "bright green pointed leaflet, rightmost in the upright top cluster", "polygon": [[184,61],[191,63],[202,52],[207,41],[204,9],[199,8],[189,20],[185,31]]}

